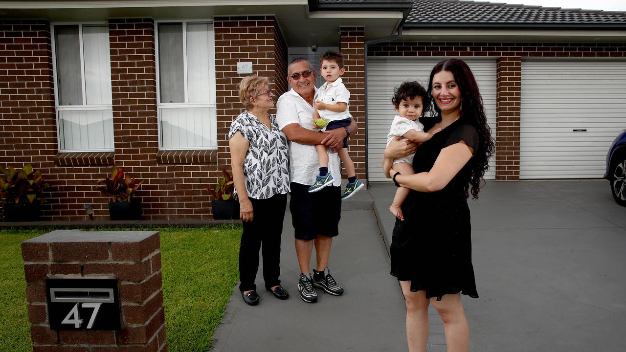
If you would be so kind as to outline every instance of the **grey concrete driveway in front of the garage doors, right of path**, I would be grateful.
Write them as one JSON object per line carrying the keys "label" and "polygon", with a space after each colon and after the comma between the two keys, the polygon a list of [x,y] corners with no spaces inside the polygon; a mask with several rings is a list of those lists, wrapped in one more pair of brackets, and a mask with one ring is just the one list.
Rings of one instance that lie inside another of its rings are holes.
{"label": "grey concrete driveway in front of the garage doors, right of path", "polygon": [[[393,192],[370,190],[387,241]],[[626,208],[606,180],[487,182],[469,207],[470,351],[626,351]]]}

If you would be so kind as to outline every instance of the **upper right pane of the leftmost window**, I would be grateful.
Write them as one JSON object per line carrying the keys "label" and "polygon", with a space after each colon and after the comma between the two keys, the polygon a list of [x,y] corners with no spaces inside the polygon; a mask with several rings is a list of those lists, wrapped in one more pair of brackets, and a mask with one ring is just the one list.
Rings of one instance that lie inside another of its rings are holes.
{"label": "upper right pane of the leftmost window", "polygon": [[109,27],[83,26],[86,104],[111,104]]}

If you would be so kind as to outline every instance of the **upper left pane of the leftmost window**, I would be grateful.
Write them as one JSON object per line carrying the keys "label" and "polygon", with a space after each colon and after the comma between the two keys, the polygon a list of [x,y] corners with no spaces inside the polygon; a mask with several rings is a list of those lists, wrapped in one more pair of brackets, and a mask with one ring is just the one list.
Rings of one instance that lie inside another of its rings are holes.
{"label": "upper left pane of the leftmost window", "polygon": [[78,25],[54,26],[59,105],[83,105]]}

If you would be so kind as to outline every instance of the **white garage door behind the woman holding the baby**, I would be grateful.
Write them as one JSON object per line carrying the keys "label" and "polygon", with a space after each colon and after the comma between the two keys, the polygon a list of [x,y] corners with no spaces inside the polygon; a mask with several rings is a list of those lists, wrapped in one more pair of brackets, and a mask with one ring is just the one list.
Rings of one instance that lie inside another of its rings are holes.
{"label": "white garage door behind the woman holding the baby", "polygon": [[[485,101],[487,122],[496,137],[496,61],[463,60],[476,76],[478,88]],[[391,104],[393,90],[403,81],[419,81],[428,86],[433,66],[441,59],[417,60],[415,58],[367,58],[367,166],[369,181],[384,181],[381,160],[387,144],[387,133],[396,115]],[[495,179],[495,157],[490,160],[490,170],[485,179]]]}

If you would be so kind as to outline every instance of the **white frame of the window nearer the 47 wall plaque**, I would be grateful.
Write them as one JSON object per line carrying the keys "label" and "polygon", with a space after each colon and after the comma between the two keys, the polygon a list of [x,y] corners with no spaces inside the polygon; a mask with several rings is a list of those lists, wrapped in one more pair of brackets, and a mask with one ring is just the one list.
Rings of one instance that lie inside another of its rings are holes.
{"label": "white frame of the window nearer the 47 wall plaque", "polygon": [[[160,70],[159,70],[159,38],[158,38],[158,24],[160,23],[180,23],[182,24],[183,33],[183,88],[184,88],[184,103],[163,103],[161,101],[161,83],[160,83]],[[187,23],[210,23],[212,25],[211,33],[209,33],[210,41],[208,43],[209,56],[209,86],[210,86],[210,101],[207,102],[188,102],[188,80],[187,80]],[[159,150],[217,150],[217,82],[215,81],[215,23],[213,19],[169,19],[155,21],[155,65],[156,65],[156,115],[158,118],[158,143]],[[163,147],[163,131],[161,128],[161,109],[168,108],[213,108],[215,113],[213,114],[213,122],[211,139],[215,145],[208,147]]]}

